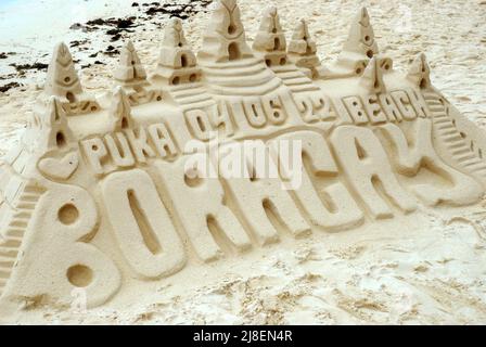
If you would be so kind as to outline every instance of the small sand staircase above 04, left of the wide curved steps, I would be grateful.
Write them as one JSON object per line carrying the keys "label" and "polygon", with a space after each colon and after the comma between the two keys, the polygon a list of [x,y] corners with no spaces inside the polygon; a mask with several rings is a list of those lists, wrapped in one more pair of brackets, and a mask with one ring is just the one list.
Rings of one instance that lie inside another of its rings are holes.
{"label": "small sand staircase above 04, left of the wide curved steps", "polygon": [[215,103],[201,82],[169,86],[168,91],[174,101],[184,110],[206,108]]}

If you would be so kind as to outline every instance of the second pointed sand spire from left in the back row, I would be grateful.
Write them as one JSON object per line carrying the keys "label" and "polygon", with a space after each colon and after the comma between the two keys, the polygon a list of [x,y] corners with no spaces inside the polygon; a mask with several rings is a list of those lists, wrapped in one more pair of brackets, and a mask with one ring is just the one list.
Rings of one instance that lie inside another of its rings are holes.
{"label": "second pointed sand spire from left in the back row", "polygon": [[133,87],[148,83],[145,69],[131,41],[122,49],[119,63],[113,76],[120,86]]}

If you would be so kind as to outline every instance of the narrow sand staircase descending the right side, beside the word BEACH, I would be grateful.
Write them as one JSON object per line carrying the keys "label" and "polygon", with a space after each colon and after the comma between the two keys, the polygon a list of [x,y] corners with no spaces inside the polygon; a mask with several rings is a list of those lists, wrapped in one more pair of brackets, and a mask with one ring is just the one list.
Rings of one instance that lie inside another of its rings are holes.
{"label": "narrow sand staircase descending the right side, beside the word BEACH", "polygon": [[453,160],[464,170],[486,179],[486,163],[477,157],[466,144],[461,133],[448,116],[447,106],[435,92],[423,93],[429,110],[433,114],[433,124],[438,141],[449,151]]}

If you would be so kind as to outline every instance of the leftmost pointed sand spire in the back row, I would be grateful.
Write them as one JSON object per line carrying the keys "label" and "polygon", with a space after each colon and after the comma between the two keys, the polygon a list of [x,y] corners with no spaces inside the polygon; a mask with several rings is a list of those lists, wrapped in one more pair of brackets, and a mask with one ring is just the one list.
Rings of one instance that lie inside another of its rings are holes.
{"label": "leftmost pointed sand spire in the back row", "polygon": [[76,101],[77,97],[82,93],[69,49],[63,42],[54,48],[54,54],[48,68],[44,93],[67,99],[69,102]]}

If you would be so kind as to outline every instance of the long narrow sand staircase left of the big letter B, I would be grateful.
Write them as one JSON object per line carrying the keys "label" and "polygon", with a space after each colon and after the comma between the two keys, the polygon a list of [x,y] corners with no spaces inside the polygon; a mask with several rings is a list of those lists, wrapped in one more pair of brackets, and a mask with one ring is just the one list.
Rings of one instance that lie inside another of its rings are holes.
{"label": "long narrow sand staircase left of the big letter B", "polygon": [[0,296],[3,294],[12,269],[15,266],[18,250],[37,201],[42,194],[38,187],[29,183],[20,187],[20,190],[22,192],[17,192],[18,198],[3,233],[3,241],[0,242]]}

